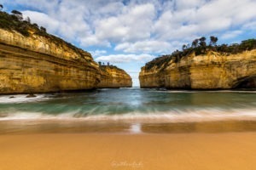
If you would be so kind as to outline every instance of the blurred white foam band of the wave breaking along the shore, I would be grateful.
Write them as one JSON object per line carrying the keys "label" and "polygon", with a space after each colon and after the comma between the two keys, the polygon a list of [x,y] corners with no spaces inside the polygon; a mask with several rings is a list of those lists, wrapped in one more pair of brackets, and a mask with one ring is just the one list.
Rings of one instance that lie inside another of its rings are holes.
{"label": "blurred white foam band of the wave breaking along the shore", "polygon": [[80,111],[50,115],[43,112],[15,112],[0,116],[0,121],[66,120],[66,121],[132,121],[132,122],[204,122],[222,120],[256,120],[255,109],[200,109],[198,111],[131,112],[120,115],[87,115]]}

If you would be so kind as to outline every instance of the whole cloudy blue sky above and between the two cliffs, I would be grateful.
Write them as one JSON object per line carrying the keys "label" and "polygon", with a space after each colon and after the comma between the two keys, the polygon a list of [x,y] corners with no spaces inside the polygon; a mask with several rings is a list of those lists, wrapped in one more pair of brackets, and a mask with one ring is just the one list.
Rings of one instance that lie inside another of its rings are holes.
{"label": "whole cloudy blue sky above and between the two cliffs", "polygon": [[0,0],[3,10],[127,71],[133,86],[146,62],[195,38],[218,44],[256,37],[256,0]]}

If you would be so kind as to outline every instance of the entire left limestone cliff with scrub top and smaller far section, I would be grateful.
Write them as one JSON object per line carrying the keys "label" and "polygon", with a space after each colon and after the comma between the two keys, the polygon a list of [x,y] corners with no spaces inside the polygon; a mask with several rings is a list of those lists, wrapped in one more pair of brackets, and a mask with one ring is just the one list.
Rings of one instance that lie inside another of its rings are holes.
{"label": "entire left limestone cliff with scrub top and smaller far section", "polygon": [[23,20],[19,11],[0,11],[0,94],[84,90],[99,82],[106,88],[129,86],[125,71],[108,70],[99,69],[90,53]]}

